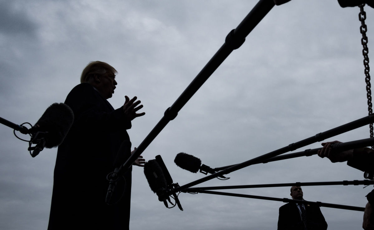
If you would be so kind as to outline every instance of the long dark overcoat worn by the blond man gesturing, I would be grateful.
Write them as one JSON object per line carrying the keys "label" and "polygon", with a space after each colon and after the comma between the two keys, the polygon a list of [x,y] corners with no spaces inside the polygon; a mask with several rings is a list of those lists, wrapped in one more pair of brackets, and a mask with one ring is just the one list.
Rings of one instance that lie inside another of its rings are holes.
{"label": "long dark overcoat worn by the blond man gesturing", "polygon": [[[65,104],[74,112],[74,123],[58,147],[54,172],[48,230],[128,229],[130,218],[131,169],[126,172],[122,199],[107,205],[106,176],[112,172],[121,143],[125,159],[131,155],[131,142],[122,108],[114,110],[88,83],[74,87]],[[122,162],[124,163],[124,162]],[[120,190],[121,185],[116,187]]]}

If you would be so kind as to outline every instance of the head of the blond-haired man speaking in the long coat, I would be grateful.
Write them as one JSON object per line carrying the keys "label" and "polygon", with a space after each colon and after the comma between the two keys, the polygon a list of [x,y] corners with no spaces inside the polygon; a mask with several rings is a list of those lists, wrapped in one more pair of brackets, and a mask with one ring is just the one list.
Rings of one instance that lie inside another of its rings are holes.
{"label": "head of the blond-haired man speaking in the long coat", "polygon": [[80,82],[87,82],[95,87],[105,99],[111,98],[117,82],[115,80],[117,70],[102,61],[92,61],[82,71]]}

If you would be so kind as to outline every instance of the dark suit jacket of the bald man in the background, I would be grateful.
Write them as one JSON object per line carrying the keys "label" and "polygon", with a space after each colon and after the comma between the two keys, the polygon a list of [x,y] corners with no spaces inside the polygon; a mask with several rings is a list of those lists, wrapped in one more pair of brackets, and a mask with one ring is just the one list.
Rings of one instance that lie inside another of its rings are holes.
{"label": "dark suit jacket of the bald man in the background", "polygon": [[[326,230],[327,223],[321,209],[315,205],[304,205],[308,230]],[[286,203],[279,208],[278,230],[304,230],[304,223],[297,204]]]}

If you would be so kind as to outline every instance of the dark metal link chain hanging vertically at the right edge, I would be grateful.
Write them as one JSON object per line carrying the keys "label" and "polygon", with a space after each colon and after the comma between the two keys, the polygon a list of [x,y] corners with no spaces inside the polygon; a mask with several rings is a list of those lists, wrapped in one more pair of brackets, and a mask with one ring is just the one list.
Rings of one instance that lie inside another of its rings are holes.
{"label": "dark metal link chain hanging vertically at the right edge", "polygon": [[[368,49],[368,37],[366,36],[366,32],[368,31],[368,28],[365,24],[365,19],[366,19],[366,12],[364,11],[364,6],[365,4],[360,5],[360,13],[358,14],[358,18],[361,22],[361,27],[360,27],[360,32],[362,34],[362,39],[361,39],[361,44],[362,44],[362,55],[364,56],[364,67],[365,67],[365,82],[366,82],[366,95],[368,98],[368,111],[369,115],[373,113],[372,106],[373,104],[371,103],[371,84],[370,84],[370,67],[369,67],[369,49]],[[370,123],[370,138],[374,137],[374,132],[373,132],[373,123]],[[374,146],[371,146],[372,149],[374,149]]]}

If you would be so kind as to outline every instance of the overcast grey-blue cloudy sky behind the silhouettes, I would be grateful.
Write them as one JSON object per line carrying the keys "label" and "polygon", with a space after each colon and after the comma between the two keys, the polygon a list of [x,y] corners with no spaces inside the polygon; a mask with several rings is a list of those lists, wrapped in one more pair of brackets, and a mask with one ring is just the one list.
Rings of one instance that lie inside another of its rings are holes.
{"label": "overcast grey-blue cloudy sky behind the silhouettes", "polygon": [[[105,61],[119,72],[113,107],[122,106],[125,95],[144,105],[146,115],[129,130],[137,147],[256,3],[0,0],[0,116],[34,124],[79,84],[89,61]],[[372,58],[374,10],[365,11]],[[142,155],[149,160],[161,154],[174,182],[183,185],[204,175],[178,168],[177,153],[221,167],[367,116],[358,13],[336,0],[275,6]],[[57,149],[31,158],[27,142],[12,129],[1,125],[0,132],[0,229],[46,229]],[[368,137],[366,126],[329,140]],[[318,156],[258,164],[228,176],[197,187],[364,179],[346,163]],[[364,207],[373,187],[363,187],[303,187],[304,199]],[[229,192],[291,198],[289,187]],[[270,230],[284,204],[210,194],[181,193],[179,199],[183,212],[165,208],[142,168],[134,167],[130,228]],[[361,229],[363,212],[321,210],[330,230]]]}

